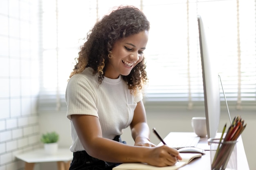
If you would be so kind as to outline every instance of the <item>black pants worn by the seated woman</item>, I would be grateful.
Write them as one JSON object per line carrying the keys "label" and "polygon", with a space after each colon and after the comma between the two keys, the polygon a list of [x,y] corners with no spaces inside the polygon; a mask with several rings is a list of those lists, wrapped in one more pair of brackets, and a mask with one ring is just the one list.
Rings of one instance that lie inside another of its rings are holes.
{"label": "black pants worn by the seated woman", "polygon": [[[120,136],[116,136],[113,140],[122,142]],[[122,143],[125,143],[125,141]],[[73,160],[69,170],[112,170],[112,168],[119,164],[91,157],[83,150],[73,153]]]}

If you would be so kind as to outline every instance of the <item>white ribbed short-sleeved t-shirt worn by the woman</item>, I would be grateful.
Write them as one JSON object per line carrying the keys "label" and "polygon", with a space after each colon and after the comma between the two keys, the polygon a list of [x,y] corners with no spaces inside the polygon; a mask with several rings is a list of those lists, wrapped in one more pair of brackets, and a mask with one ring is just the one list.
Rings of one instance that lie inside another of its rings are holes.
{"label": "white ribbed short-sleeved t-shirt worn by the woman", "polygon": [[130,93],[127,83],[119,76],[117,79],[104,77],[101,84],[92,68],[72,76],[67,84],[65,100],[67,118],[71,122],[72,152],[84,150],[71,121],[70,115],[93,115],[99,118],[104,138],[114,139],[121,135],[133,118],[137,102],[142,94]]}

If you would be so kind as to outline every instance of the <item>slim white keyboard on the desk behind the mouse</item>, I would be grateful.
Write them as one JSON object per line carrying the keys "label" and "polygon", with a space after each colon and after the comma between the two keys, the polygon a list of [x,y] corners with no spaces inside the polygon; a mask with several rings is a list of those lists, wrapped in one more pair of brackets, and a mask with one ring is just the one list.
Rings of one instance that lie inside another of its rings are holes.
{"label": "slim white keyboard on the desk behind the mouse", "polygon": [[184,147],[196,147],[200,141],[200,137],[178,137],[171,140],[166,140],[166,145],[171,148],[184,148]]}

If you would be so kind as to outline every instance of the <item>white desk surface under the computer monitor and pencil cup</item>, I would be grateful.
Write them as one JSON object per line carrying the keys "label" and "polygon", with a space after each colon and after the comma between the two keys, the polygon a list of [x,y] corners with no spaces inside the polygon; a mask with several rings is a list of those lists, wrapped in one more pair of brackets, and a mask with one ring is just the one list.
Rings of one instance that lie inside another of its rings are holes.
{"label": "white desk surface under the computer monitor and pencil cup", "polygon": [[[218,135],[221,134],[217,134]],[[165,138],[164,141],[168,145],[168,140],[175,140],[175,137],[184,137],[184,136],[196,136],[194,132],[171,132]],[[204,147],[206,149],[206,154],[202,155],[201,158],[193,159],[189,164],[179,168],[179,170],[211,170],[211,158],[210,151],[207,144],[207,137],[200,138],[199,145],[197,147]],[[249,170],[249,165],[247,162],[247,158],[245,155],[245,149],[243,146],[243,140],[240,136],[238,138],[238,142],[236,144],[236,152],[237,152],[237,170]]]}

